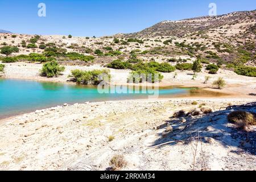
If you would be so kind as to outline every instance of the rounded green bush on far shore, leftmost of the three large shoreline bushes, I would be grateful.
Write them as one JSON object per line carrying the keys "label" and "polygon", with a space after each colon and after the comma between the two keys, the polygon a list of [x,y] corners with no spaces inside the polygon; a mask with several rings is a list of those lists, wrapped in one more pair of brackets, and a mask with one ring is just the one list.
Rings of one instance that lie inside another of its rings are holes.
{"label": "rounded green bush on far shore, leftmost of the three large shoreline bushes", "polygon": [[57,61],[50,61],[43,65],[42,70],[40,71],[41,76],[44,77],[57,77],[61,75],[61,72],[65,70],[65,67],[61,67]]}

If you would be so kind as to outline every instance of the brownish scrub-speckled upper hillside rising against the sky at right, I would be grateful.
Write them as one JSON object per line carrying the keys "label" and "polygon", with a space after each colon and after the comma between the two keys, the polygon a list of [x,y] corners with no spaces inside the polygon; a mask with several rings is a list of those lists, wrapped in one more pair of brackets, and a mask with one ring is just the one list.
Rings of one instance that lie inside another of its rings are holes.
{"label": "brownish scrub-speckled upper hillside rising against the sky at right", "polygon": [[[199,18],[184,19],[178,21],[163,21],[152,27],[146,28],[127,36],[184,36],[198,31],[212,31],[213,29],[240,28],[243,34],[240,36],[252,36],[256,32],[256,11],[241,11],[219,16],[203,16]],[[240,31],[234,32],[236,34]]]}

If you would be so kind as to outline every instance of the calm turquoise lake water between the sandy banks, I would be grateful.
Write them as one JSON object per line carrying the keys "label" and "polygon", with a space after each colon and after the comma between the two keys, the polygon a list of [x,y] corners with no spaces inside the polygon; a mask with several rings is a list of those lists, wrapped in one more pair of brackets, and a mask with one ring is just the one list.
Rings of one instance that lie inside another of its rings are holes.
{"label": "calm turquoise lake water between the sandy banks", "polygon": [[[160,89],[160,97],[188,94],[190,89]],[[152,90],[149,90],[152,91]],[[64,103],[147,98],[150,94],[100,94],[97,87],[53,82],[0,79],[0,118]]]}

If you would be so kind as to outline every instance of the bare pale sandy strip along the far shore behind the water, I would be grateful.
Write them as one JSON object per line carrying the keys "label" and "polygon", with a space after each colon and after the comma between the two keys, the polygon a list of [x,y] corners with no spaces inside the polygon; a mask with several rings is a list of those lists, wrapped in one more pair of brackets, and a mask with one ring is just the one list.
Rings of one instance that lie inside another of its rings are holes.
{"label": "bare pale sandy strip along the far shore behind the water", "polygon": [[[5,76],[3,78],[15,78],[15,79],[25,79],[25,80],[34,80],[34,81],[45,81],[45,82],[61,82],[67,84],[75,84],[74,82],[69,81],[69,75],[73,69],[81,69],[83,71],[92,71],[94,69],[106,69],[101,67],[101,65],[91,65],[89,67],[83,66],[71,66],[66,65],[63,75],[59,77],[46,78],[39,75],[40,69],[42,69],[42,64],[35,63],[11,63],[6,64]],[[129,76],[129,70],[116,70],[109,69],[112,76],[113,85],[129,85],[127,84],[127,77]],[[212,86],[212,82],[217,79],[216,75],[209,75],[203,69],[202,72],[197,73],[196,80],[192,80],[191,71],[176,71],[177,78],[174,78],[175,73],[163,73],[164,79],[158,84],[160,87],[166,86],[184,86],[184,87],[198,87],[211,92],[220,92],[232,95],[234,98],[251,97],[251,94],[256,94],[256,78],[255,77],[246,77],[237,75],[232,71],[220,70],[217,77],[223,77],[226,81],[226,86],[223,89],[216,89]],[[211,76],[209,82],[204,84],[205,76]],[[241,82],[241,80],[243,80]],[[136,84],[133,84],[136,85]],[[139,84],[147,85],[147,83]]]}

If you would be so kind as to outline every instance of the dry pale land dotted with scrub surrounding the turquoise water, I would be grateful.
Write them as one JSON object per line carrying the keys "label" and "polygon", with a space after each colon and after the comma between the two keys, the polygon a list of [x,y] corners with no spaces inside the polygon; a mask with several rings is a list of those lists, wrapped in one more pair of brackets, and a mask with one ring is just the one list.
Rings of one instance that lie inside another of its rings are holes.
{"label": "dry pale land dotted with scrub surrounding the turquoise water", "polygon": [[[0,33],[2,78],[76,84],[75,69],[108,69],[110,84],[126,85],[130,73],[153,72],[163,76],[159,86],[225,94],[63,103],[2,119],[0,169],[105,170],[121,155],[126,162],[116,169],[256,170],[255,125],[241,129],[227,118],[237,110],[256,113],[255,17],[254,10],[167,20],[101,38]],[[64,71],[44,76],[52,61]]]}

